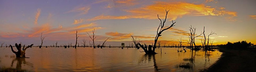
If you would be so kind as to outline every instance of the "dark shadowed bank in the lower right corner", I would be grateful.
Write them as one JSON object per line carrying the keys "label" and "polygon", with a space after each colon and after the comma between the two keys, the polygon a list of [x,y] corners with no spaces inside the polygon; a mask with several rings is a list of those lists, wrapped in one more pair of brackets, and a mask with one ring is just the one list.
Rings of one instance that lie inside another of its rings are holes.
{"label": "dark shadowed bank in the lower right corner", "polygon": [[256,52],[250,50],[227,50],[221,58],[208,69],[201,72],[254,72],[256,71]]}

